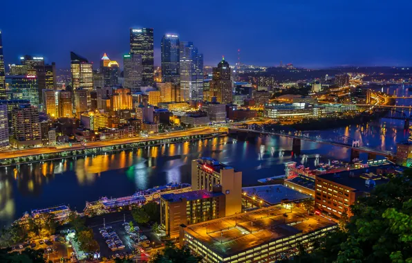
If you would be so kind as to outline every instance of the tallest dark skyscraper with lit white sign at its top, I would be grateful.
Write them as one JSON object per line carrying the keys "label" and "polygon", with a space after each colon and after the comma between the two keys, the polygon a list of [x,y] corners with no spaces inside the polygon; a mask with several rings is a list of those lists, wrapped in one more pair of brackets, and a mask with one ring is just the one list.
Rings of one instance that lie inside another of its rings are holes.
{"label": "tallest dark skyscraper with lit white sign at its top", "polygon": [[153,28],[130,28],[130,53],[142,55],[142,86],[153,87]]}

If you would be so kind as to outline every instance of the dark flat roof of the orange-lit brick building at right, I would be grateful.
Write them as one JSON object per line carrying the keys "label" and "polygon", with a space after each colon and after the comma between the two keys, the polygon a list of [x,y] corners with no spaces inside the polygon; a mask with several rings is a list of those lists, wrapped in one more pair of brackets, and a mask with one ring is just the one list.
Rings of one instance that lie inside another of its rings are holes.
{"label": "dark flat roof of the orange-lit brick building at right", "polygon": [[375,167],[366,167],[363,169],[337,172],[335,174],[319,174],[317,179],[325,179],[334,183],[339,183],[360,192],[371,192],[373,188],[365,185],[366,179],[373,179],[376,185],[388,183],[388,179],[375,174],[379,168],[387,168],[388,165],[379,165]]}

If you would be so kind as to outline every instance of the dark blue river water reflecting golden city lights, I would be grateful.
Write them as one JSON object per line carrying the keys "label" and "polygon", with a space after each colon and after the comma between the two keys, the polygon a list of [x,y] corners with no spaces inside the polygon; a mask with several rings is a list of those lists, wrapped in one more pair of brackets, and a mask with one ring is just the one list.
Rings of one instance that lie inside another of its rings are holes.
{"label": "dark blue river water reflecting golden city lights", "polygon": [[[407,87],[383,91],[408,95]],[[410,105],[399,100],[397,105]],[[364,125],[334,129],[376,149],[393,149],[408,137],[402,120],[382,119]],[[350,150],[308,141],[301,142],[301,156],[292,157],[292,140],[260,137],[238,141],[230,137],[147,147],[85,158],[68,158],[31,165],[0,168],[0,226],[10,224],[25,211],[68,204],[78,211],[86,201],[122,197],[137,190],[170,182],[190,183],[191,160],[211,156],[243,172],[243,184],[284,174],[283,163],[297,161],[309,167],[330,160],[348,161]],[[366,160],[367,155],[360,158]]]}

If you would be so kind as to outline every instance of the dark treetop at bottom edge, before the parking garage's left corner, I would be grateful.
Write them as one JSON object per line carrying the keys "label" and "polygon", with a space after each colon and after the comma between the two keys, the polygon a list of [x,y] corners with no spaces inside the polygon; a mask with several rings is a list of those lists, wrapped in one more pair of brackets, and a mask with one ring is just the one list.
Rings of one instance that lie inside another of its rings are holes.
{"label": "dark treetop at bottom edge, before the parking garage's left corner", "polygon": [[196,263],[201,260],[202,257],[192,255],[187,246],[177,248],[173,243],[167,243],[165,249],[158,251],[150,262]]}

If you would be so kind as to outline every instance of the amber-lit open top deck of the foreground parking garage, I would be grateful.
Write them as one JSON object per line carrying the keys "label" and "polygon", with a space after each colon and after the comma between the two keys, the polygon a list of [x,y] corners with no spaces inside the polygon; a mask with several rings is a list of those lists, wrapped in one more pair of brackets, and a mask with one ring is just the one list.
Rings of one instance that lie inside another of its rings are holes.
{"label": "amber-lit open top deck of the foreground parking garage", "polygon": [[323,217],[308,216],[301,208],[279,205],[194,224],[185,231],[214,253],[228,257],[285,237],[335,226]]}

